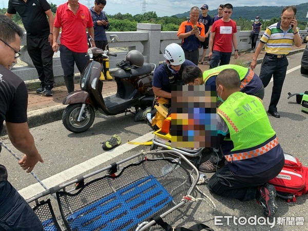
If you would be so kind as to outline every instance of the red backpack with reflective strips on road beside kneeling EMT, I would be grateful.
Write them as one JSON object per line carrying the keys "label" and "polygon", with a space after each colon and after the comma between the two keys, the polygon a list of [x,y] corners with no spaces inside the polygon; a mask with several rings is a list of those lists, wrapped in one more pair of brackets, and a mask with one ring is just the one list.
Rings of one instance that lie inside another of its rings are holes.
{"label": "red backpack with reflective strips on road beside kneeling EMT", "polygon": [[294,156],[284,153],[284,166],[278,176],[268,183],[275,186],[277,197],[296,202],[295,196],[308,192],[308,167]]}

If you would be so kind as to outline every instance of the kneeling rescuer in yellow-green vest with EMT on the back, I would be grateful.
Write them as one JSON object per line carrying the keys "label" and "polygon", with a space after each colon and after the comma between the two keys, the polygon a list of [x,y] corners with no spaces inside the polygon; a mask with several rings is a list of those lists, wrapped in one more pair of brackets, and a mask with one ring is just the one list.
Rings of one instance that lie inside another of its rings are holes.
{"label": "kneeling rescuer in yellow-green vest with EMT on the back", "polygon": [[[227,165],[209,180],[215,194],[242,201],[257,199],[265,217],[277,210],[275,187],[267,182],[276,177],[284,165],[283,150],[269,123],[262,101],[240,92],[238,72],[221,71],[216,78],[218,97],[223,102],[217,112],[218,156]],[[233,147],[221,148],[228,136]],[[199,169],[202,170],[203,164]]]}

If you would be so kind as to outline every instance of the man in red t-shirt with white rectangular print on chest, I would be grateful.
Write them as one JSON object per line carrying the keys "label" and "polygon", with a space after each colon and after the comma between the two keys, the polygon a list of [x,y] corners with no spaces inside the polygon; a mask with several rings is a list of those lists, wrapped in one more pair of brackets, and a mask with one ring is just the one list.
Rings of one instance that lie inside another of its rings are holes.
{"label": "man in red t-shirt with white rectangular print on chest", "polygon": [[232,54],[232,44],[234,46],[234,58],[238,57],[238,44],[236,38],[236,22],[230,19],[233,12],[231,4],[223,6],[222,18],[214,22],[211,28],[211,35],[209,40],[210,59],[209,68],[215,68],[220,62],[220,66],[229,64]]}

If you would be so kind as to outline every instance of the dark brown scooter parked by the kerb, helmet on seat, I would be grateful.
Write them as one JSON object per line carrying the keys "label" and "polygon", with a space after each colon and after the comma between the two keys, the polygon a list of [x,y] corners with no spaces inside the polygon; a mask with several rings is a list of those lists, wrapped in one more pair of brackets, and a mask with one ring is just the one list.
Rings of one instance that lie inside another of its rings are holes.
{"label": "dark brown scooter parked by the kerb, helmet on seat", "polygon": [[[119,38],[110,35],[110,40],[113,43]],[[141,67],[132,65],[130,70],[116,70],[113,78],[117,83],[117,93],[103,98],[103,62],[108,62],[106,66],[109,67],[109,56],[117,56],[109,52],[107,46],[106,50],[97,47],[88,49],[90,61],[80,77],[81,90],[69,93],[63,101],[68,106],[62,114],[62,122],[69,131],[78,133],[87,130],[93,124],[94,109],[115,115],[130,112],[131,107],[138,112],[139,108],[145,109],[153,103],[152,77],[155,65],[147,63]]]}

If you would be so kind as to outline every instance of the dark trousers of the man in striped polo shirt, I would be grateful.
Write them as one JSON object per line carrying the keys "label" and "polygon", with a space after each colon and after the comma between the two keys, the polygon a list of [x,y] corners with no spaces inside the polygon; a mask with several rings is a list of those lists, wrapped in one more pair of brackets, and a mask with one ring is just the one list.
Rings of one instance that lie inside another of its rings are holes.
{"label": "dark trousers of the man in striped polo shirt", "polygon": [[282,58],[264,56],[259,75],[260,79],[264,87],[271,81],[272,76],[274,80],[271,103],[268,106],[269,111],[277,111],[277,104],[280,99],[287,66],[286,56]]}

